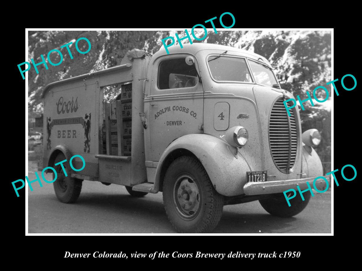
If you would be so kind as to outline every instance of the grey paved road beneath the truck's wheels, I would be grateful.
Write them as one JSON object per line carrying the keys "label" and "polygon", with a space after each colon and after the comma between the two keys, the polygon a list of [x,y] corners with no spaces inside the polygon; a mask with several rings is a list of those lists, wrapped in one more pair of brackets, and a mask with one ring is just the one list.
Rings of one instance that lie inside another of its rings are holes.
{"label": "grey paved road beneath the truck's wheels", "polygon": [[[28,177],[35,179],[34,173]],[[174,233],[162,193],[133,198],[124,186],[84,181],[78,201],[64,204],[52,184],[37,185],[28,191],[29,233]],[[331,190],[315,193],[293,218],[271,216],[258,201],[224,206],[213,233],[331,233]]]}

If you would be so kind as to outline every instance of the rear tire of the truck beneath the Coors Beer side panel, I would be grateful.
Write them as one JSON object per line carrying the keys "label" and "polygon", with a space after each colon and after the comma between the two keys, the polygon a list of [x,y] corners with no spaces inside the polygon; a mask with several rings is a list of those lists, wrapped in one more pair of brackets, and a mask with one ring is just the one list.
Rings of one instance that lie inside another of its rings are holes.
{"label": "rear tire of the truck beneath the Coors Beer side panel", "polygon": [[[64,156],[63,153],[59,153],[56,156],[55,161],[54,161],[54,165],[53,165],[53,168],[55,168],[56,172],[59,172],[59,170],[61,172],[63,172],[63,169],[62,169],[61,165],[60,164],[55,165],[55,164],[60,162],[60,161],[65,160],[65,159],[66,159],[66,157]],[[60,186],[59,186],[59,174],[58,174],[58,179],[55,180],[55,182],[53,182],[55,195],[59,199],[60,202],[74,203],[79,198],[80,191],[82,189],[83,180],[70,177],[71,168],[70,168],[69,161],[63,163],[63,165],[64,165],[64,168],[65,168],[65,170],[67,172],[67,175],[68,175],[68,177],[67,177],[68,178],[67,188],[66,188],[66,190],[64,192],[60,188]],[[54,179],[54,173],[53,173],[53,179]]]}

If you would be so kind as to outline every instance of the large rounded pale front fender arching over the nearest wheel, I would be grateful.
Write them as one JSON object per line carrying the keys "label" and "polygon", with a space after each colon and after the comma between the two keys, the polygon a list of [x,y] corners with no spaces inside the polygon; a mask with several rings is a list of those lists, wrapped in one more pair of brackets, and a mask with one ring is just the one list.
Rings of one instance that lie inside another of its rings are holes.
{"label": "large rounded pale front fender arching over the nearest wheel", "polygon": [[220,138],[209,134],[188,134],[174,140],[161,155],[155,176],[155,188],[159,187],[163,163],[177,150],[192,152],[202,163],[215,190],[225,196],[243,194],[245,172],[250,167],[241,154],[235,156],[235,148]]}

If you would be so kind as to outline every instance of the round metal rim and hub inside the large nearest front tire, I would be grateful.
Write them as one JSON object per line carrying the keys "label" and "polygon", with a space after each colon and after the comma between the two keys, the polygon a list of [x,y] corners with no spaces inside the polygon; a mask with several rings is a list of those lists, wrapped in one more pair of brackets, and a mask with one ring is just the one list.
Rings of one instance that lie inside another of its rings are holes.
{"label": "round metal rim and hub inside the large nearest front tire", "polygon": [[173,192],[177,211],[188,219],[195,217],[198,214],[201,201],[199,187],[195,179],[189,174],[178,177]]}

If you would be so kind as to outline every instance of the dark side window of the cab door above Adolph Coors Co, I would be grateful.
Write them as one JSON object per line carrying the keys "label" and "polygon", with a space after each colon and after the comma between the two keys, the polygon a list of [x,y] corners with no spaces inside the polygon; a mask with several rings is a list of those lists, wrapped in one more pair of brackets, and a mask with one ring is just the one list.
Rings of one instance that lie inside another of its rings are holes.
{"label": "dark side window of the cab door above Adolph Coors Co", "polygon": [[158,84],[159,89],[181,89],[193,87],[197,83],[194,66],[187,65],[185,57],[168,59],[160,63]]}

